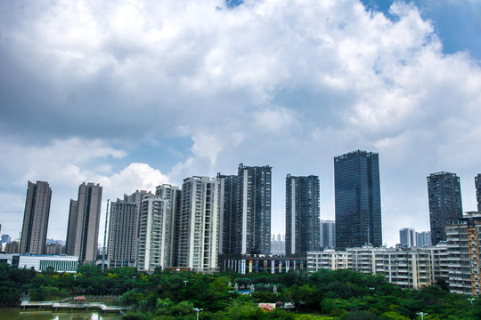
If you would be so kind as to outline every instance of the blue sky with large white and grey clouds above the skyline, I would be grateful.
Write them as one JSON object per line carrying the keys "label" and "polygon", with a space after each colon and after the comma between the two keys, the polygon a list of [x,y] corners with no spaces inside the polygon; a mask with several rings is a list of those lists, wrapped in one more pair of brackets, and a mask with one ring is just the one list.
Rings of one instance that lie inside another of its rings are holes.
{"label": "blue sky with large white and grey clouds above the skyline", "polygon": [[383,243],[429,229],[426,177],[481,172],[480,0],[0,2],[0,223],[18,237],[28,180],[53,191],[65,239],[82,182],[106,202],[193,175],[273,167],[318,175],[334,220],[333,157],[379,153]]}

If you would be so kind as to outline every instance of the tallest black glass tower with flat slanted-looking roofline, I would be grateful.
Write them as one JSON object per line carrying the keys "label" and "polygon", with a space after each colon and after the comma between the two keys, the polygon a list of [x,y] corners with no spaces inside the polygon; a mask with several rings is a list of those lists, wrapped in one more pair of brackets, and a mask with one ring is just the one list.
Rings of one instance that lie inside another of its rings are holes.
{"label": "tallest black glass tower with flat slanted-looking roofline", "polygon": [[362,150],[334,157],[336,247],[382,245],[379,155]]}

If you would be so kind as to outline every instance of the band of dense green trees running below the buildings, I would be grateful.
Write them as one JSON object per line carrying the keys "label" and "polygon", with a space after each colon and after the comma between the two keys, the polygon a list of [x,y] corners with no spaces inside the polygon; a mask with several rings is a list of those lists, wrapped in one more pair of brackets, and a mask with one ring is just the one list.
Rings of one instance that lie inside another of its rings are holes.
{"label": "band of dense green trees running below the buildings", "polygon": [[[249,292],[240,294],[238,291]],[[384,276],[353,270],[290,270],[282,274],[203,274],[157,269],[83,266],[76,274],[11,268],[0,263],[0,305],[29,300],[61,300],[75,295],[117,295],[132,306],[125,319],[479,319],[481,303],[452,294],[443,282],[420,290],[389,284]],[[264,311],[259,303],[276,303]],[[291,304],[292,310],[282,306]]]}

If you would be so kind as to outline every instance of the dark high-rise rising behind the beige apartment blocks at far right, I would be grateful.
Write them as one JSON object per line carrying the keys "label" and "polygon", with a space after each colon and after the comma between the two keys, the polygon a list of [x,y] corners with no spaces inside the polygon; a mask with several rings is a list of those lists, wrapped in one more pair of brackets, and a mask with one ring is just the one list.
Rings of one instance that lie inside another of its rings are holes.
{"label": "dark high-rise rising behind the beige apartment blocks at far right", "polygon": [[445,226],[462,218],[461,181],[455,173],[428,176],[429,220],[433,245],[446,240]]}

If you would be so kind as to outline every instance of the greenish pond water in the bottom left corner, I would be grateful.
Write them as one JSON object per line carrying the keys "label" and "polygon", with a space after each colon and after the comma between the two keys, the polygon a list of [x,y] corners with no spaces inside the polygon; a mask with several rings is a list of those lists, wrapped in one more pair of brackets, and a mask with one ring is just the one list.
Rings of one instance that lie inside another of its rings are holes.
{"label": "greenish pond water in the bottom left corner", "polygon": [[2,320],[120,320],[117,313],[60,311],[21,308],[0,308]]}

